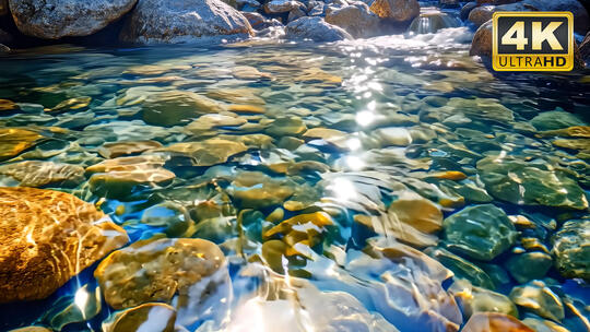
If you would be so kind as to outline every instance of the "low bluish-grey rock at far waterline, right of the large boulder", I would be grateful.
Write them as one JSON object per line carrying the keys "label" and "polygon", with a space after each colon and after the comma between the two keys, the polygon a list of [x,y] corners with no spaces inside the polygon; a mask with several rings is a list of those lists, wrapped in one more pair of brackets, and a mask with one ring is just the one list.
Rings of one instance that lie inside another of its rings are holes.
{"label": "low bluish-grey rock at far waterline, right of the large boulder", "polygon": [[314,42],[338,42],[353,37],[343,28],[329,24],[322,17],[300,17],[286,25],[288,39],[311,39]]}

